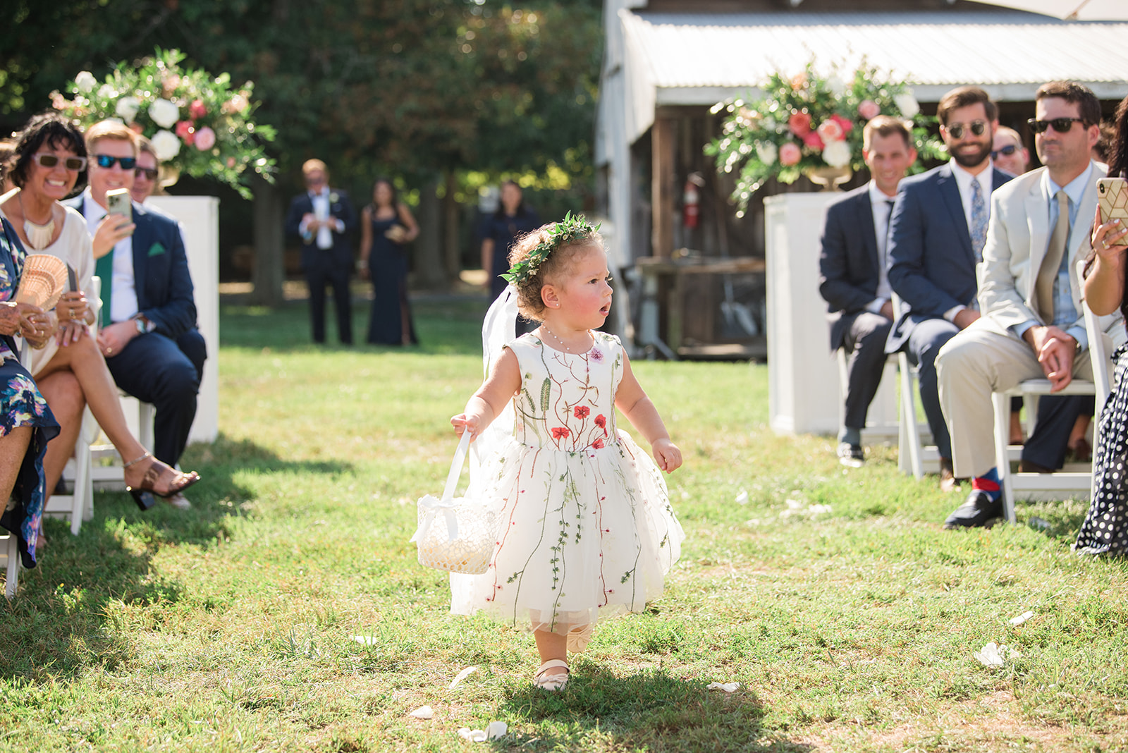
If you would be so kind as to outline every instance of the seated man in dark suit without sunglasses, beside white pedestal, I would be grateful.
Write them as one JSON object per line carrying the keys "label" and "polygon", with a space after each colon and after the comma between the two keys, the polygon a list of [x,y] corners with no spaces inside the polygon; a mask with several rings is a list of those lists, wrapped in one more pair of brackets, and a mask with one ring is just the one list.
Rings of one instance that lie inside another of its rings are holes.
{"label": "seated man in dark suit without sunglasses, beside white pedestal", "polygon": [[862,140],[870,183],[827,209],[819,256],[819,292],[827,301],[830,348],[849,354],[838,459],[852,467],[864,462],[862,428],[881,383],[885,340],[893,324],[885,275],[889,216],[897,185],[916,161],[908,129],[888,115],[866,123]]}

